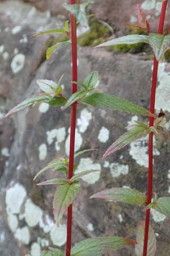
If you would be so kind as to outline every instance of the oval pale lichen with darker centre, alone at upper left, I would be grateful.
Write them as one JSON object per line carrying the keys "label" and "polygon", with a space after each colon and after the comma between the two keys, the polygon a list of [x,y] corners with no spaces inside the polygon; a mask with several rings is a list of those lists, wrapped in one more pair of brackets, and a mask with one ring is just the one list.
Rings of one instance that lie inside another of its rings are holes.
{"label": "oval pale lichen with darker centre, alone at upper left", "polygon": [[25,65],[25,55],[19,53],[11,61],[11,69],[14,74],[20,72]]}

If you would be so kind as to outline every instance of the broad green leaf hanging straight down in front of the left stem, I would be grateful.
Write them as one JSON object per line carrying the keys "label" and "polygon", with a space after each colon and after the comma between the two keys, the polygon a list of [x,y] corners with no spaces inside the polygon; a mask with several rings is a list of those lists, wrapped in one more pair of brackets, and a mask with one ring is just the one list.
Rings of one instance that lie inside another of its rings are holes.
{"label": "broad green leaf hanging straight down in front of the left stem", "polygon": [[66,212],[67,207],[73,203],[73,200],[80,189],[78,182],[60,185],[57,188],[53,201],[54,218],[57,225],[61,222],[62,216]]}

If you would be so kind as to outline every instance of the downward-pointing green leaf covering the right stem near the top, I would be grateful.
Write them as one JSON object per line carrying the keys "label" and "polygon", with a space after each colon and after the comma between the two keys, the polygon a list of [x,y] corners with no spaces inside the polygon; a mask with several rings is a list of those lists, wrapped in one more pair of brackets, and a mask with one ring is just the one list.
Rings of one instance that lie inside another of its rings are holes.
{"label": "downward-pointing green leaf covering the right stem near the top", "polygon": [[170,35],[150,34],[150,45],[154,50],[156,59],[162,59],[170,44]]}

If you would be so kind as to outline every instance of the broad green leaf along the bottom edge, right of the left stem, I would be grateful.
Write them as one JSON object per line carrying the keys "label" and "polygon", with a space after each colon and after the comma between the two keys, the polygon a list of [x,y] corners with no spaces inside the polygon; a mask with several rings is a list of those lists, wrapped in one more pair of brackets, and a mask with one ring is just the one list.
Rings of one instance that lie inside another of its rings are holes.
{"label": "broad green leaf along the bottom edge, right of the left stem", "polygon": [[71,256],[101,256],[123,246],[135,245],[136,242],[122,237],[88,238],[77,243],[71,250]]}

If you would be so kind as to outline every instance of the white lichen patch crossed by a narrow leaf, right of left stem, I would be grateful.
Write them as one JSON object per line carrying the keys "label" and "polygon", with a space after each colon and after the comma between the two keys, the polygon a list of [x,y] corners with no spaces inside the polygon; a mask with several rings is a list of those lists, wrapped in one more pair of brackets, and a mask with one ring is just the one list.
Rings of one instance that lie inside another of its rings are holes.
{"label": "white lichen patch crossed by a narrow leaf, right of left stem", "polygon": [[78,164],[75,174],[86,170],[99,170],[97,172],[92,172],[86,176],[83,176],[81,179],[86,181],[88,184],[94,184],[100,179],[101,166],[99,163],[94,163],[90,158],[81,158]]}

